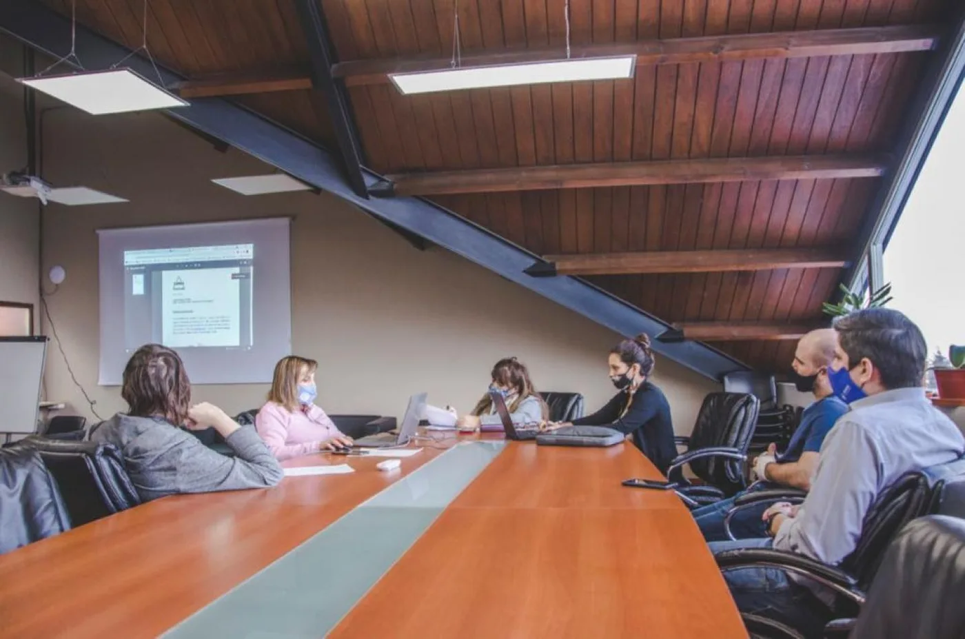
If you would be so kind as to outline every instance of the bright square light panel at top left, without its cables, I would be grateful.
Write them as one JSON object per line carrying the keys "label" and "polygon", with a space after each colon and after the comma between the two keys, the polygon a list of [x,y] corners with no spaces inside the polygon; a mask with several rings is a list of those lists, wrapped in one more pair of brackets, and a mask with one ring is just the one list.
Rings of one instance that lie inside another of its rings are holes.
{"label": "bright square light panel at top left, without its cables", "polygon": [[92,115],[187,106],[187,102],[130,69],[25,77],[21,83]]}

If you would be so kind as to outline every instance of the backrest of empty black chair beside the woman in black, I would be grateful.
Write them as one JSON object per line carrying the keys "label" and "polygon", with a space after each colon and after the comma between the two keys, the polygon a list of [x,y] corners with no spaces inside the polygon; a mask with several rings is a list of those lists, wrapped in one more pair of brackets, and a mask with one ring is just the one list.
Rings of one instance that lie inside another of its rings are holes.
{"label": "backrest of empty black chair beside the woman in black", "polygon": [[[746,454],[758,423],[759,407],[758,398],[747,393],[708,394],[690,434],[688,452],[725,446]],[[735,459],[696,459],[690,463],[690,469],[729,495],[745,485],[743,462]]]}

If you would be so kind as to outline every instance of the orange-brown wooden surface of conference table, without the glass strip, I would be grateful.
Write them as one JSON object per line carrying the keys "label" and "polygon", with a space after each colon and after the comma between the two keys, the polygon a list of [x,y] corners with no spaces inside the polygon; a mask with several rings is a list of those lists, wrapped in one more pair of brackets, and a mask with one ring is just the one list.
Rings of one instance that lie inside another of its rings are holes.
{"label": "orange-brown wooden surface of conference table, without the glass strip", "polygon": [[[2,555],[0,636],[161,634],[466,439],[388,474],[339,458],[356,472],[160,499]],[[747,637],[691,515],[629,477],[660,478],[629,443],[508,442],[330,636]]]}

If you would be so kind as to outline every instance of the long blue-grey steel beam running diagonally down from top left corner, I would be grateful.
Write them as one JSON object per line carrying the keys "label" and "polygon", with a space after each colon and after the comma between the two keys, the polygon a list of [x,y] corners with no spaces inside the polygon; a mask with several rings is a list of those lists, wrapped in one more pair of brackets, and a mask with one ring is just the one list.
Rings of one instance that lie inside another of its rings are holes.
{"label": "long blue-grey steel beam running diagonally down from top left corner", "polygon": [[[6,0],[4,11],[0,12],[0,31],[55,57],[69,51],[69,20],[35,0]],[[76,50],[89,70],[106,69],[128,53],[120,44],[82,27],[77,29]],[[155,77],[147,60],[134,56],[128,62],[145,77]],[[160,72],[166,84],[184,79],[170,69]],[[538,260],[538,256],[427,200],[359,196],[345,181],[338,160],[331,153],[244,107],[220,98],[201,98],[192,99],[189,106],[171,109],[168,114],[620,335],[646,332],[656,336],[671,328],[670,324],[584,280],[526,274],[525,269]],[[382,181],[381,176],[366,169],[363,175],[369,186]],[[653,348],[712,379],[720,380],[731,371],[747,370],[730,356],[698,342],[654,341]]]}

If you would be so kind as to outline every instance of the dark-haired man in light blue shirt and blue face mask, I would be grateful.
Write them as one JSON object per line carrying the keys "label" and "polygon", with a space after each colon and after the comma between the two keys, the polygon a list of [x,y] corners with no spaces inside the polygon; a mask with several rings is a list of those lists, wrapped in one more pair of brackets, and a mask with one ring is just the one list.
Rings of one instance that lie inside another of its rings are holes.
{"label": "dark-haired man in light blue shirt and blue face mask", "polygon": [[[829,371],[835,395],[851,410],[821,446],[811,491],[800,507],[764,514],[774,540],[714,542],[713,552],[773,547],[831,565],[854,551],[865,516],[904,473],[965,454],[958,428],[925,398],[921,330],[891,309],[866,309],[835,321],[838,347]],[[725,573],[737,607],[819,636],[830,618],[825,593],[814,597],[779,569]]]}

